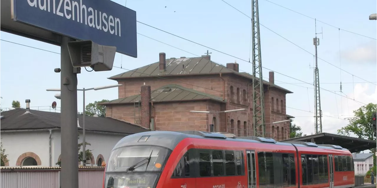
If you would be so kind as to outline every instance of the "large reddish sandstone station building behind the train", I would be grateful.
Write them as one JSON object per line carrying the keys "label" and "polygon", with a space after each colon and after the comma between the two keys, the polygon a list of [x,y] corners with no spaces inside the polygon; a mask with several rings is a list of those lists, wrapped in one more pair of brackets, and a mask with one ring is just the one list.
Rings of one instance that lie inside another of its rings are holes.
{"label": "large reddish sandstone station building behind the train", "polygon": [[[110,77],[122,86],[118,99],[102,105],[106,105],[106,116],[155,130],[209,131],[213,124],[221,132],[251,136],[252,78],[239,72],[238,63],[223,66],[212,62],[210,55],[166,59],[165,53],[160,53],[156,63]],[[291,117],[286,114],[286,94],[293,92],[274,84],[274,72],[263,82],[266,136],[288,139],[289,122],[271,123]],[[240,108],[247,110],[220,113],[218,117],[215,113],[190,112]]]}

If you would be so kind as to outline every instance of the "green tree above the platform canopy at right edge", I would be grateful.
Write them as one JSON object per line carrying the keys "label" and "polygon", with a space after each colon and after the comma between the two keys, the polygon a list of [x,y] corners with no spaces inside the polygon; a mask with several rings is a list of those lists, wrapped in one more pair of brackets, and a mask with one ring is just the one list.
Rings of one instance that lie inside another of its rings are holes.
{"label": "green tree above the platform canopy at right edge", "polygon": [[348,125],[339,129],[338,134],[350,136],[353,133],[360,139],[374,140],[371,120],[372,114],[377,112],[377,104],[369,103],[353,112],[354,117],[348,119]]}

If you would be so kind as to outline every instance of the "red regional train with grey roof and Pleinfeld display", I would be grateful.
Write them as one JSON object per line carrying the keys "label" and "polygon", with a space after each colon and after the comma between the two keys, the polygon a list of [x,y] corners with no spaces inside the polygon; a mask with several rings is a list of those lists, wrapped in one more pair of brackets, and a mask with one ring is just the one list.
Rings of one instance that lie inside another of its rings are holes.
{"label": "red regional train with grey roof and Pleinfeld display", "polygon": [[348,188],[348,149],[202,131],[149,131],[121,139],[104,188]]}

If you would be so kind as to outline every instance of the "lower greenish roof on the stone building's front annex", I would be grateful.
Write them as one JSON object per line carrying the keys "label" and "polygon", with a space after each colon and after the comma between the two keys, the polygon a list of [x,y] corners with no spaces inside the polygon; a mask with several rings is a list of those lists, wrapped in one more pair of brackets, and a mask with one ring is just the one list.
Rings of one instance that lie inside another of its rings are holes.
{"label": "lower greenish roof on the stone building's front annex", "polygon": [[[185,88],[176,84],[162,86],[161,88],[153,90],[150,95],[151,102],[170,102],[182,100],[215,100],[218,102],[224,102],[220,97],[216,97],[204,92],[195,91],[193,89]],[[111,100],[109,102],[101,103],[101,105],[126,104],[138,101],[140,101],[140,94]]]}

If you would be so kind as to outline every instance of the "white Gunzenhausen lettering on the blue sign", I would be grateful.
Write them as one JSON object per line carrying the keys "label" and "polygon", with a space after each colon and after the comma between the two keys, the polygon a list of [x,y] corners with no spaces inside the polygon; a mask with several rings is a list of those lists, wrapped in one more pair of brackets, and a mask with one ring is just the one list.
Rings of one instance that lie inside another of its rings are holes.
{"label": "white Gunzenhausen lettering on the blue sign", "polygon": [[[121,22],[119,18],[107,15],[105,12],[93,10],[83,5],[83,0],[27,0],[30,6],[41,11],[52,12],[68,20],[77,21],[92,28],[110,32],[121,37]],[[52,1],[52,3],[51,3]]]}

